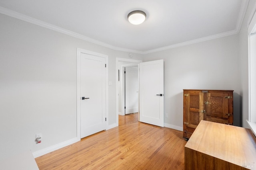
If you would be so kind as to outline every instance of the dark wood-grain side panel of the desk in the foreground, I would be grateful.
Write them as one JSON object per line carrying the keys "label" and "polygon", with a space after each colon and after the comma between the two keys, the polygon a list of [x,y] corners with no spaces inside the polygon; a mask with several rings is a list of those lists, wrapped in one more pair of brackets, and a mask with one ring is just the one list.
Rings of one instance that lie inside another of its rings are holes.
{"label": "dark wood-grain side panel of the desk in the foreground", "polygon": [[248,170],[187,147],[184,153],[185,170]]}

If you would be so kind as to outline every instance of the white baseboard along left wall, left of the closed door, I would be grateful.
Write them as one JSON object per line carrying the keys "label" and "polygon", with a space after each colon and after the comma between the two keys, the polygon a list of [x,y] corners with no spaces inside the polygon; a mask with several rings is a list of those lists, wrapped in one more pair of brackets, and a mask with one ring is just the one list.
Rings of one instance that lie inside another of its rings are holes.
{"label": "white baseboard along left wall, left of the closed door", "polygon": [[43,150],[39,150],[37,152],[33,152],[33,156],[34,158],[37,158],[39,156],[42,156],[44,154],[47,154],[47,153],[50,153],[54,150],[57,150],[57,149],[60,149],[60,148],[63,148],[63,147],[66,147],[68,145],[71,145],[73,143],[76,143],[78,141],[80,141],[81,139],[79,138],[74,138],[74,139],[70,139],[69,141],[66,141],[66,142],[63,142],[63,143],[60,143],[60,144],[57,144],[57,145],[54,145],[52,147],[48,147],[46,149],[43,149]]}

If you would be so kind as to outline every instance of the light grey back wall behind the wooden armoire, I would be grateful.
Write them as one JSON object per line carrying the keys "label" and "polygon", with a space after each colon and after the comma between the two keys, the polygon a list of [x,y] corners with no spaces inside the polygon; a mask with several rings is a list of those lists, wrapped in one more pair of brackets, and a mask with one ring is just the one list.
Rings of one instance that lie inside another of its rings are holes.
{"label": "light grey back wall behind the wooden armoire", "polygon": [[148,54],[164,59],[164,112],[169,127],[183,126],[183,89],[234,90],[234,125],[240,125],[238,35]]}

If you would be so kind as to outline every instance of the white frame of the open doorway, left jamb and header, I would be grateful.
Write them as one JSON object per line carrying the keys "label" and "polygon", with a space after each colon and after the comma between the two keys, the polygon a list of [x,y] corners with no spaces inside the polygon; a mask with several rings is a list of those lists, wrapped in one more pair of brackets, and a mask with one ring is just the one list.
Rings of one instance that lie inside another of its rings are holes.
{"label": "white frame of the open doorway, left jamb and header", "polygon": [[[142,63],[142,60],[134,60],[134,59],[126,59],[126,58],[116,58],[116,126],[118,126],[118,107],[119,107],[119,101],[118,101],[118,62],[119,61],[126,61],[130,62],[132,64],[138,64]],[[120,74],[120,73],[119,73]],[[140,92],[139,92],[140,93]]]}

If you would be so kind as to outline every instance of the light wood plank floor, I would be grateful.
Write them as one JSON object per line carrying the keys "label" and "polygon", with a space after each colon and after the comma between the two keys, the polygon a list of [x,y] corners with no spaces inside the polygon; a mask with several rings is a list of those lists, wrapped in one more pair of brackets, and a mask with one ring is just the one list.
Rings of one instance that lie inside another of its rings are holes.
{"label": "light wood plank floor", "polygon": [[119,127],[36,158],[40,170],[183,170],[182,132],[119,116]]}

